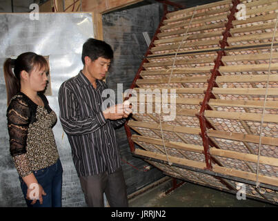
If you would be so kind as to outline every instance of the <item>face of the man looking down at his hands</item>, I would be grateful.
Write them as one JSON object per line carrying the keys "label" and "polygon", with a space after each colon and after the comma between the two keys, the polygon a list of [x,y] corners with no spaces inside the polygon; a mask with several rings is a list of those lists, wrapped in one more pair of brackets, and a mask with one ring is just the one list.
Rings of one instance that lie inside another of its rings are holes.
{"label": "face of the man looking down at his hands", "polygon": [[106,77],[106,73],[110,66],[110,59],[99,57],[97,60],[92,61],[88,57],[87,66],[90,77],[92,77],[92,79],[101,80]]}

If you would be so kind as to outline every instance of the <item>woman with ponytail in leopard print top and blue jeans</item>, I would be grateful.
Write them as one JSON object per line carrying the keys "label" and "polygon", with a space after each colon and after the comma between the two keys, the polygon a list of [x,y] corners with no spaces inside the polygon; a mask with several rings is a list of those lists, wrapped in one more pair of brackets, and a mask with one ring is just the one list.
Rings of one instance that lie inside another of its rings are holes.
{"label": "woman with ponytail in leopard print top and blue jeans", "polygon": [[30,207],[61,206],[63,169],[52,132],[57,116],[43,95],[47,74],[48,62],[34,52],[4,63],[10,154]]}

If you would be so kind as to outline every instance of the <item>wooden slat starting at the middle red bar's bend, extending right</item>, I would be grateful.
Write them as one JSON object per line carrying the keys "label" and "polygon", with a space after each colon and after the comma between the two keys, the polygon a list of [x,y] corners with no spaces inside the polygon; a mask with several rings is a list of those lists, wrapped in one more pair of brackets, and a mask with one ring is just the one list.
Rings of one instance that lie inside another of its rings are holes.
{"label": "wooden slat starting at the middle red bar's bend, extending right", "polygon": [[[251,122],[261,122],[262,115],[260,113],[237,113],[227,111],[205,111],[205,117],[247,120]],[[264,114],[264,122],[278,123],[278,115]]]}

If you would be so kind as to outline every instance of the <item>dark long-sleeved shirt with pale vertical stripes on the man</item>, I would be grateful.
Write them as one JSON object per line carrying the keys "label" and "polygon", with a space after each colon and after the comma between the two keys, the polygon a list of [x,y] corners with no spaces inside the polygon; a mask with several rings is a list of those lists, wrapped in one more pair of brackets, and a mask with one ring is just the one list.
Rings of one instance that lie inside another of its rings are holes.
{"label": "dark long-sleeved shirt with pale vertical stripes on the man", "polygon": [[113,173],[121,166],[114,128],[125,119],[104,118],[101,104],[107,97],[101,97],[101,93],[108,86],[103,81],[96,83],[95,89],[80,71],[59,89],[59,117],[79,177]]}

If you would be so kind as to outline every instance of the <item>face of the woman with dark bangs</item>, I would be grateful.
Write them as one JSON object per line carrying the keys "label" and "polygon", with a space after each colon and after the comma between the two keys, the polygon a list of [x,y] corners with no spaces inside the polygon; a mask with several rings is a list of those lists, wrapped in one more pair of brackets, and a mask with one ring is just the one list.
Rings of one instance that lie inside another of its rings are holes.
{"label": "face of the woman with dark bangs", "polygon": [[42,67],[40,70],[37,67],[31,71],[28,77],[28,83],[32,90],[41,91],[46,88],[48,77],[46,75],[46,68]]}

